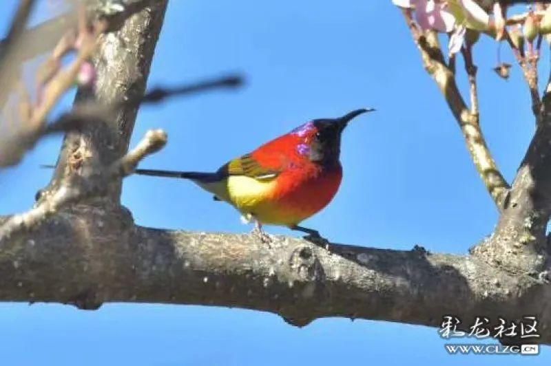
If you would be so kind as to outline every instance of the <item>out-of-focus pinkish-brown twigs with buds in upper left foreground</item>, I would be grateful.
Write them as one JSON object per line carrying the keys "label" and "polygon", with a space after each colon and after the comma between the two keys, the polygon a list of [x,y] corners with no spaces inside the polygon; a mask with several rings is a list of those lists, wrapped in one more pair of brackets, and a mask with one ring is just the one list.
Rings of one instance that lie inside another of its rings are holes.
{"label": "out-of-focus pinkish-brown twigs with buds in upper left foreground", "polygon": [[[34,28],[27,28],[27,23],[37,1],[19,3],[10,30],[0,41],[0,169],[18,164],[43,136],[82,127],[81,118],[52,123],[47,118],[65,92],[74,86],[93,87],[96,69],[91,58],[101,34],[120,28],[125,19],[151,2],[75,0],[77,11],[70,10]],[[46,52],[50,55],[37,72],[36,85],[28,90],[21,81],[21,65]],[[67,56],[74,56],[74,61],[63,67]],[[33,100],[31,95],[37,97]]]}

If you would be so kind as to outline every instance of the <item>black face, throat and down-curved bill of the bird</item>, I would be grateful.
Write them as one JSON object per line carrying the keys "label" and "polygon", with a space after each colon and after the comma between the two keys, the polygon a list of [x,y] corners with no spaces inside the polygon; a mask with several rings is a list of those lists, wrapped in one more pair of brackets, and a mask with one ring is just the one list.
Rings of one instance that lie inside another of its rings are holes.
{"label": "black face, throat and down-curved bill of the bird", "polygon": [[330,165],[338,162],[342,131],[353,118],[371,111],[375,111],[375,109],[356,109],[340,118],[313,120],[316,133],[311,144],[310,159],[314,162]]}

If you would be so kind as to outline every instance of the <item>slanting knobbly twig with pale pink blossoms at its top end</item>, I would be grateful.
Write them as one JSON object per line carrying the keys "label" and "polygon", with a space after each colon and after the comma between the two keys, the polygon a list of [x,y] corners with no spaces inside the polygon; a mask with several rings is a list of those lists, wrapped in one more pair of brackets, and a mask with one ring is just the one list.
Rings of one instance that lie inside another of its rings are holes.
{"label": "slanting knobbly twig with pale pink blossoms at its top end", "polygon": [[[450,10],[459,5],[455,1],[393,0],[393,3],[402,8],[404,19],[421,53],[423,65],[446,99],[481,180],[501,210],[510,186],[499,171],[480,127],[477,66],[473,54],[473,46],[479,38],[479,23],[486,20],[480,14],[484,10],[478,6],[475,10],[459,7],[455,8],[454,13]],[[472,10],[472,13],[468,10]],[[439,32],[450,35],[446,54],[439,43]],[[459,53],[464,57],[470,85],[469,106],[465,101],[467,98],[461,95],[457,87],[455,58]]]}

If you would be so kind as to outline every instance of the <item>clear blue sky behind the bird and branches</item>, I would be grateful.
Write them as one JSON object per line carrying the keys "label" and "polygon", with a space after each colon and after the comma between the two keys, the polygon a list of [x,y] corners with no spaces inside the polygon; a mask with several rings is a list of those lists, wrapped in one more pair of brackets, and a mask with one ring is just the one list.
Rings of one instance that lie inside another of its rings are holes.
{"label": "clear blue sky behind the bird and branches", "polygon": [[[10,14],[17,1],[2,1]],[[41,14],[37,17],[41,17]],[[6,25],[6,16],[1,20]],[[481,123],[511,180],[534,131],[517,67],[498,78],[497,45],[481,41]],[[212,92],[141,109],[132,144],[147,129],[169,134],[142,166],[214,170],[236,155],[312,118],[360,107],[377,112],[345,131],[344,180],[331,205],[304,222],[333,241],[465,253],[489,235],[497,212],[450,112],[419,62],[388,0],[171,0],[149,86],[242,72],[238,92]],[[503,61],[514,63],[503,47]],[[461,87],[466,83],[462,80]],[[65,98],[65,107],[71,96]],[[0,214],[23,211],[47,184],[59,137],[0,173]],[[9,194],[6,194],[9,192]],[[130,177],[123,203],[136,222],[162,228],[243,233],[233,208],[178,180]],[[289,233],[268,228],[270,233]],[[52,263],[54,265],[54,263]],[[453,297],[453,294],[450,294]],[[448,356],[429,327],[321,319],[298,329],[273,314],[171,305],[104,305],[84,312],[63,305],[0,304],[0,359],[6,365],[331,365],[389,360],[426,365],[515,365],[541,356]]]}

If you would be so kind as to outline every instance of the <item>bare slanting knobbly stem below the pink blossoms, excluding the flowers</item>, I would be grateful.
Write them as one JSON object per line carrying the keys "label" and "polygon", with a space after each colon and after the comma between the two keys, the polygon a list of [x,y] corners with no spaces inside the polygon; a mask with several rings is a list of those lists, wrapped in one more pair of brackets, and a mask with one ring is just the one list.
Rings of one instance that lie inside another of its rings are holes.
{"label": "bare slanting knobbly stem below the pink blossoms, excluding the flowers", "polygon": [[[461,96],[457,83],[455,82],[455,74],[446,65],[444,54],[442,54],[437,36],[434,32],[425,32],[423,34],[421,30],[417,28],[415,21],[411,17],[411,11],[409,9],[402,9],[408,27],[413,35],[413,39],[421,52],[423,65],[435,80],[440,91],[446,98],[446,103],[453,113],[453,116],[461,127],[461,132],[465,138],[467,149],[471,155],[472,161],[475,163],[477,171],[481,177],[482,182],[486,186],[488,193],[492,196],[495,204],[501,210],[503,202],[508,193],[509,184],[506,182],[503,175],[497,168],[497,164],[488,149],[486,140],[484,140],[484,134],[480,128],[479,114],[471,113],[466,106],[464,98]],[[472,71],[472,70],[471,70]],[[472,82],[474,74],[471,80],[471,96],[476,97],[476,87]],[[472,105],[472,110],[476,111],[476,104]]]}

